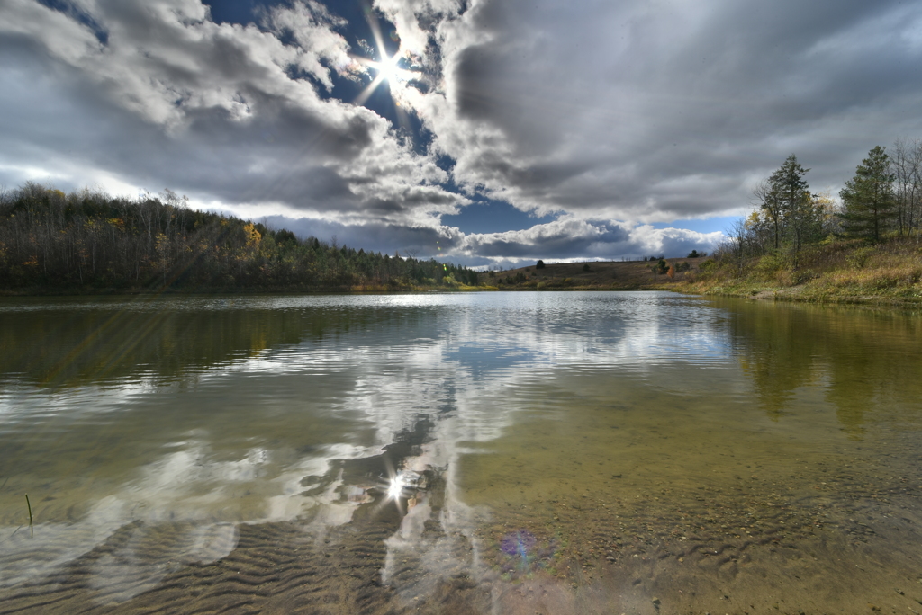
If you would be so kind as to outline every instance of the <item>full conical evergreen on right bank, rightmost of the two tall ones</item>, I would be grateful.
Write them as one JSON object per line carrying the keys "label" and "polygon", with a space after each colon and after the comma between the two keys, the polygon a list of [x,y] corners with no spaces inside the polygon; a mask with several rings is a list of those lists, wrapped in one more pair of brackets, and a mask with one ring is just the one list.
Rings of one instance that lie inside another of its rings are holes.
{"label": "full conical evergreen on right bank, rightmost of the two tall ones", "polygon": [[877,145],[870,150],[857,166],[855,177],[839,192],[845,203],[845,213],[840,216],[849,235],[880,241],[881,233],[896,217],[895,176],[885,149]]}

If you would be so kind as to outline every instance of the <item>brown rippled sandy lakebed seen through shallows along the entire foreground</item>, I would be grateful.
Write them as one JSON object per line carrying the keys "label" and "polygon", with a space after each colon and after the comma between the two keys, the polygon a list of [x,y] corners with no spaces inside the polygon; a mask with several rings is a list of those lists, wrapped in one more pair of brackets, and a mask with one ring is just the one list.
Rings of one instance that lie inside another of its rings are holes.
{"label": "brown rippled sandy lakebed seen through shallows along the entire foreground", "polygon": [[[739,487],[623,476],[610,496],[569,489],[494,508],[469,538],[438,520],[436,472],[431,492],[415,494],[436,514],[417,548],[396,557],[388,541],[408,517],[380,501],[325,532],[311,518],[241,525],[232,551],[213,562],[183,561],[182,550],[170,559],[182,524],[132,524],[42,583],[8,588],[0,612],[916,609],[919,486],[898,475],[912,469],[849,453],[862,467],[875,464],[877,479],[825,464],[826,485],[812,473],[786,482],[748,476]],[[133,577],[145,562],[160,574]]]}

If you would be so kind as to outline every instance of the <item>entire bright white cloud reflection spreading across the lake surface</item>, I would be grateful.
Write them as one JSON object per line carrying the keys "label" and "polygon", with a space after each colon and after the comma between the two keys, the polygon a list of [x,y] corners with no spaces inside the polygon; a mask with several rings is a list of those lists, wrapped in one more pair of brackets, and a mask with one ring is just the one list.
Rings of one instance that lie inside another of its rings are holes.
{"label": "entire bright white cloud reflection spreading across the lake surface", "polygon": [[[216,311],[412,308],[423,310],[425,318],[388,321],[384,330],[338,331],[335,339],[270,347],[196,369],[196,386],[203,391],[246,387],[247,393],[258,389],[260,378],[267,378],[270,386],[294,387],[281,379],[291,377],[305,387],[304,382],[329,382],[331,375],[338,375],[339,389],[324,401],[323,412],[348,412],[356,424],[371,428],[372,441],[357,444],[349,433],[330,432],[338,442],[284,458],[271,443],[239,446],[247,425],[260,428],[258,419],[245,417],[250,423],[240,426],[222,424],[216,415],[207,428],[160,444],[161,452],[138,468],[135,478],[98,499],[80,520],[40,523],[35,540],[25,540],[25,532],[14,536],[15,528],[0,528],[0,540],[5,540],[0,584],[34,580],[77,558],[91,557],[100,596],[119,601],[156,585],[171,566],[225,557],[236,544],[236,524],[298,520],[305,531],[322,533],[348,523],[358,506],[374,505],[368,502],[370,490],[383,477],[344,473],[343,462],[380,456],[382,447],[412,431],[420,417],[431,425],[403,456],[402,469],[429,472],[435,480],[430,490],[416,494],[415,505],[387,540],[384,581],[394,581],[404,556],[417,558],[420,570],[430,573],[414,584],[435,584],[462,573],[479,578],[481,545],[475,528],[486,511],[464,502],[458,459],[513,424],[515,412],[533,402],[519,393],[550,370],[644,370],[681,358],[700,365],[725,360],[727,337],[715,327],[715,312],[688,300],[669,302],[631,294],[285,297],[240,300],[233,306],[191,301],[195,309]],[[180,310],[186,306],[174,303]],[[60,396],[42,393],[41,399],[25,388],[3,392],[2,430],[35,418],[34,412],[18,408],[23,400],[23,407],[41,407],[47,416],[100,411],[130,416],[164,396],[177,403],[204,399],[185,392],[181,384],[144,379],[123,387],[74,388]],[[319,412],[313,400],[304,399],[311,390],[271,392],[288,395],[284,402],[266,395],[269,405],[290,404],[284,407],[290,414],[284,416]],[[239,452],[222,452],[229,448],[224,441],[237,443],[230,448]],[[168,526],[170,532],[164,529]],[[432,527],[438,530],[427,529]],[[407,591],[432,587],[414,585]]]}

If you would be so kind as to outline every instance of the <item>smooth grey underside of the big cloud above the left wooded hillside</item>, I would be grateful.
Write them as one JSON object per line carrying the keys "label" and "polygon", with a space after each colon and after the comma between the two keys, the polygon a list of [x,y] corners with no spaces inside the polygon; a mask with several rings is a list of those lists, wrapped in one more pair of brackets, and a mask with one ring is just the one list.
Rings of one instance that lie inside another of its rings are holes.
{"label": "smooth grey underside of the big cloud above the left wooded hillside", "polygon": [[[60,79],[54,88],[33,84],[17,90],[15,84],[21,83],[17,76],[25,75],[0,69],[3,91],[28,103],[6,127],[6,153],[19,159],[45,149],[53,157],[77,157],[84,165],[104,168],[155,192],[174,187],[224,203],[276,202],[317,211],[331,206],[339,212],[364,211],[348,180],[333,168],[317,166],[310,146],[305,146],[311,143],[307,138],[311,133],[302,123],[290,122],[285,130],[278,122],[239,124],[226,122],[223,110],[196,110],[189,114],[188,131],[171,136],[155,125],[135,122],[130,113],[92,88],[70,84],[69,95],[61,97],[65,79]],[[60,123],[37,129],[51,115]],[[7,186],[20,180],[9,170],[0,171],[0,181]],[[76,188],[92,180],[85,176],[70,183]]]}

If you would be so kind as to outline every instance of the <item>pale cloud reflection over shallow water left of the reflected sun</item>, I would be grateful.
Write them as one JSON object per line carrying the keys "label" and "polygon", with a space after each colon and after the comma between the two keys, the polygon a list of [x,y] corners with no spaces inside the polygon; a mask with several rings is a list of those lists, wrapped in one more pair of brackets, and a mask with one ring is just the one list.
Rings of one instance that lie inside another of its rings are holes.
{"label": "pale cloud reflection over shallow water left of the reflected sun", "polygon": [[[348,523],[363,502],[338,493],[341,472],[327,476],[334,459],[368,455],[363,447],[328,447],[279,471],[265,448],[216,460],[204,437],[171,443],[176,450],[139,469],[136,481],[100,499],[77,522],[39,523],[34,539],[21,528],[0,530],[0,586],[35,582],[89,558],[100,602],[119,602],[179,566],[226,557],[237,544],[237,523],[310,516],[314,527],[325,528]],[[301,482],[311,476],[321,488],[305,494]]]}

